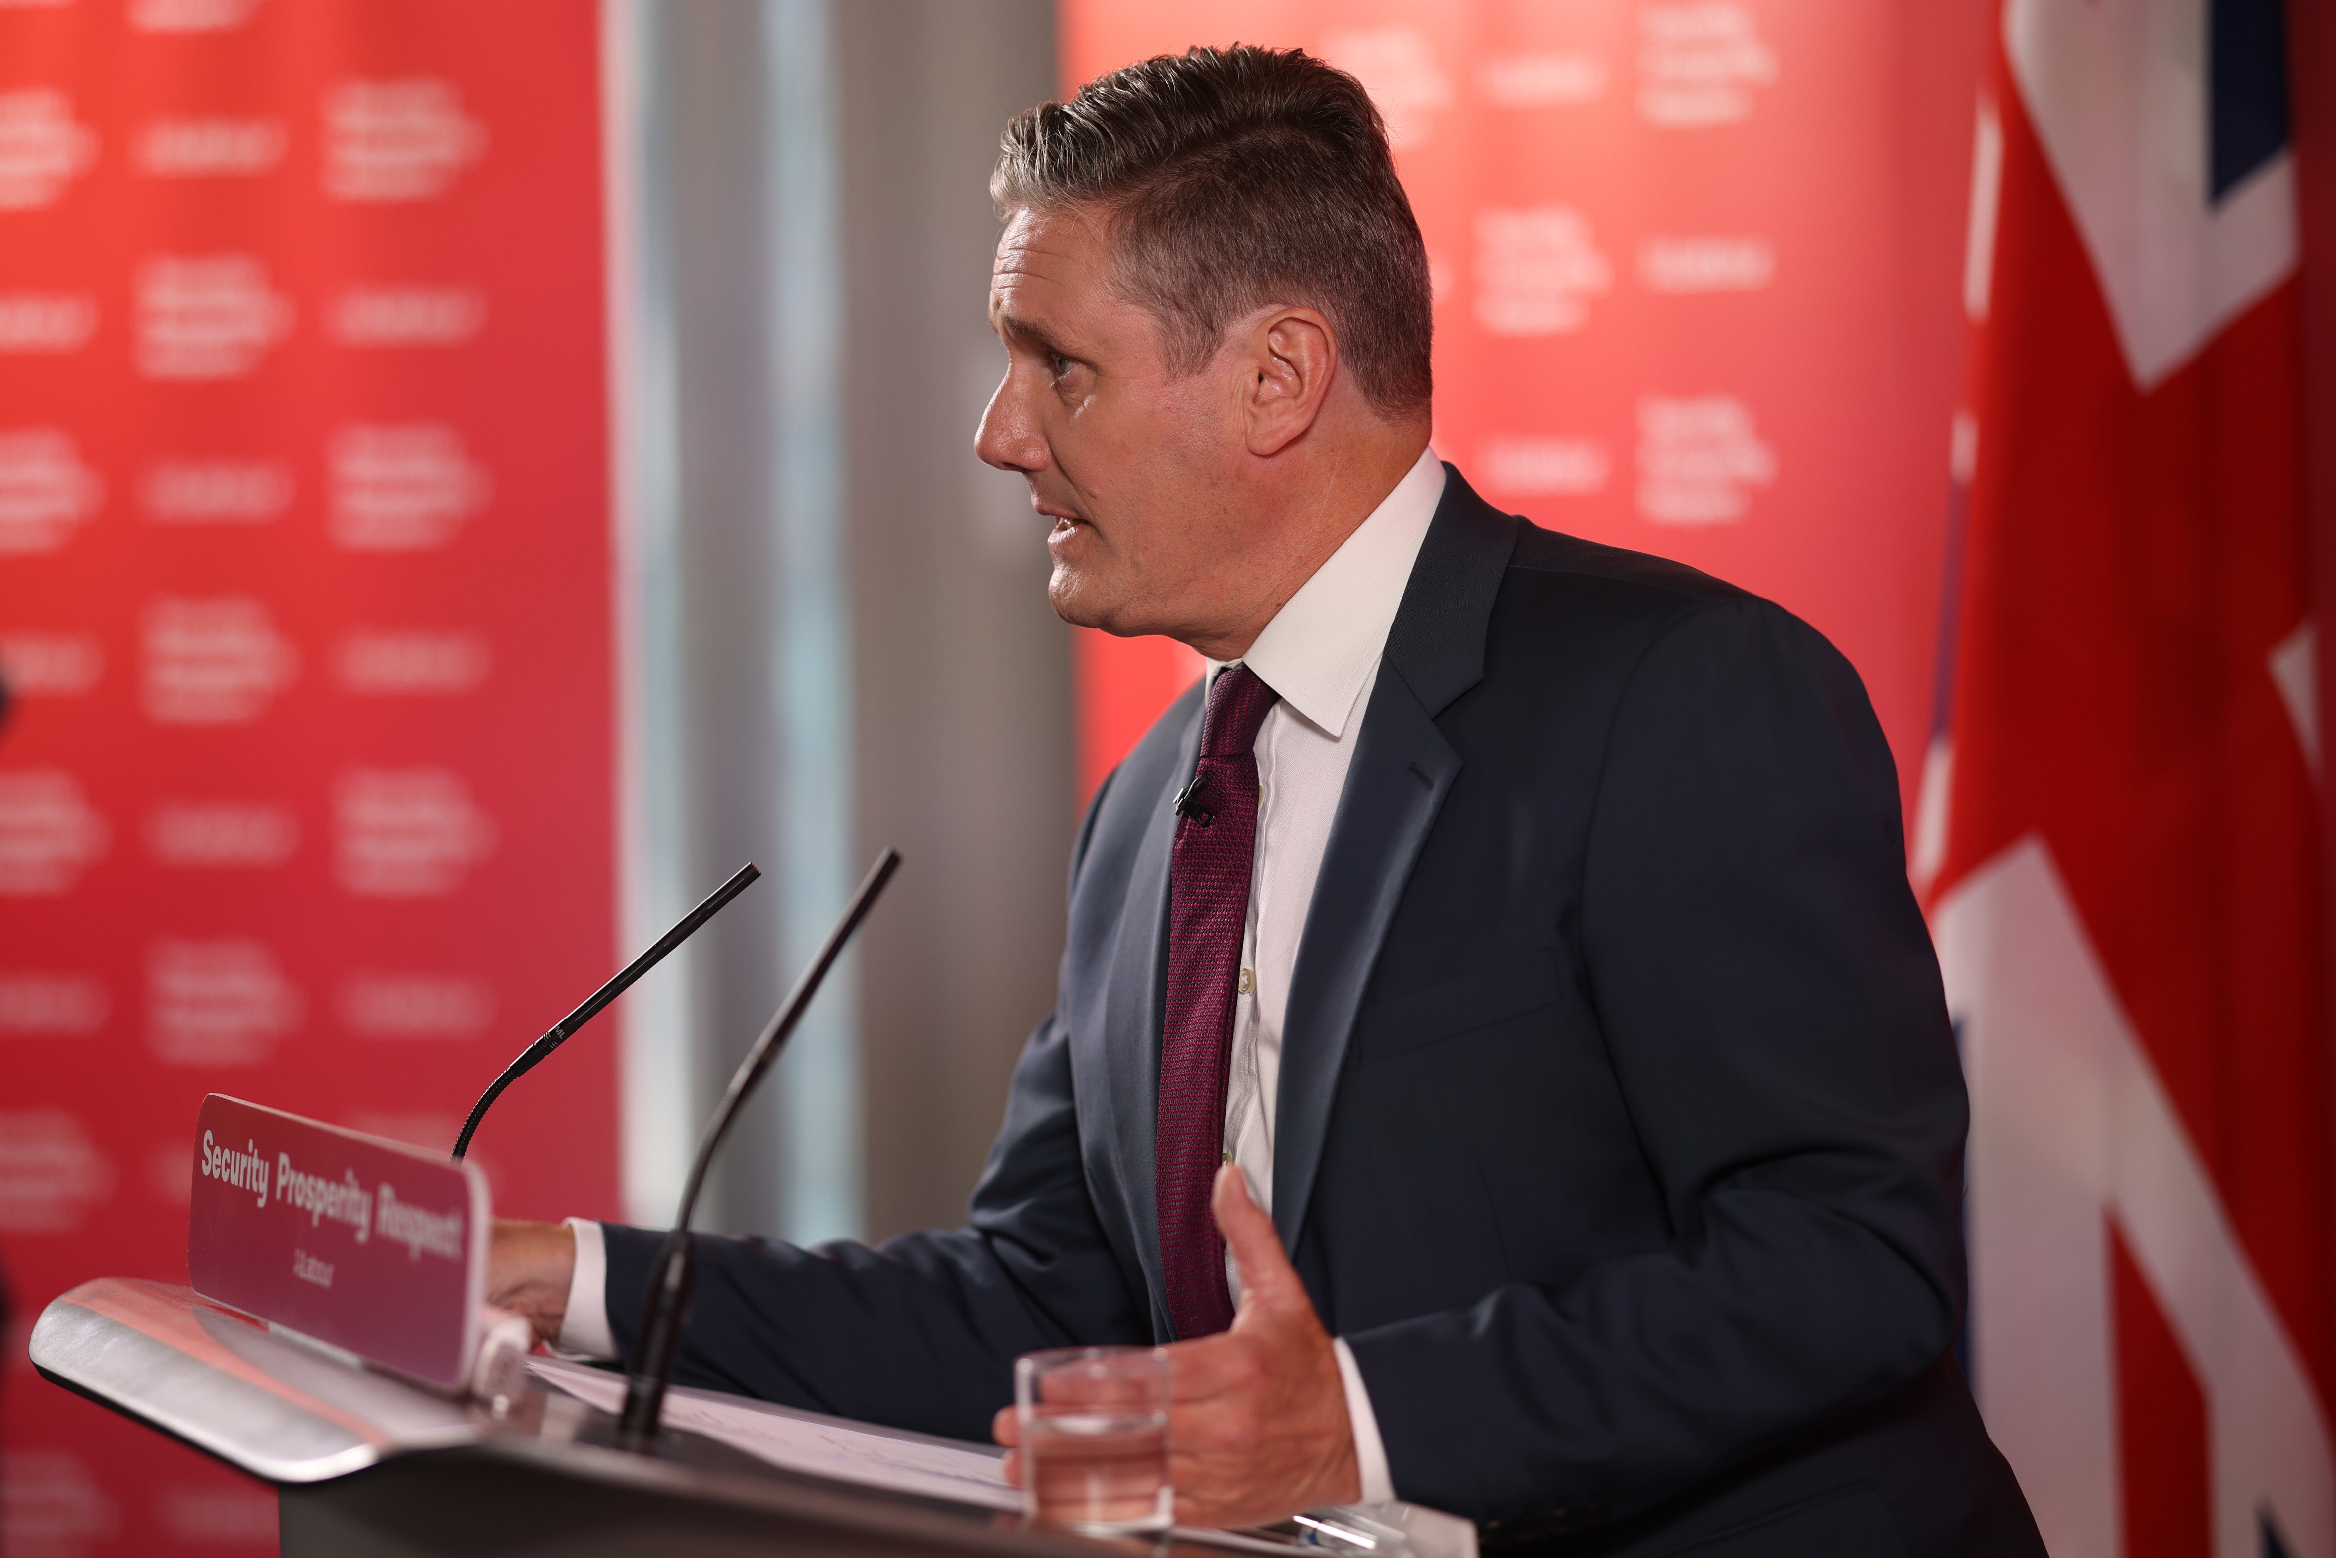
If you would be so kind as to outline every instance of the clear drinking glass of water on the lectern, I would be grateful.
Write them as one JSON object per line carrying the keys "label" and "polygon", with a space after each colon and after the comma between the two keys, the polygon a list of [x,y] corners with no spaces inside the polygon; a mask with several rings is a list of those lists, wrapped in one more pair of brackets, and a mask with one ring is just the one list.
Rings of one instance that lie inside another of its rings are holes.
{"label": "clear drinking glass of water on the lectern", "polygon": [[1030,1518],[1089,1535],[1168,1530],[1168,1350],[1056,1348],[1014,1359]]}

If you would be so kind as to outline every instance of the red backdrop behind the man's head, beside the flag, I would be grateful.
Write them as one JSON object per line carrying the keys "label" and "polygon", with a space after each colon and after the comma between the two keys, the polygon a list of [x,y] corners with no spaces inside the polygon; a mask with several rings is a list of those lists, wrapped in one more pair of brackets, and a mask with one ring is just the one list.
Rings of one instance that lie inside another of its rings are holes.
{"label": "red backdrop behind the man's head, beside the flag", "polygon": [[[1303,44],[1371,89],[1437,278],[1437,451],[1780,600],[1932,722],[1981,0],[1065,0],[1063,79]],[[1198,670],[1082,633],[1093,783]]]}

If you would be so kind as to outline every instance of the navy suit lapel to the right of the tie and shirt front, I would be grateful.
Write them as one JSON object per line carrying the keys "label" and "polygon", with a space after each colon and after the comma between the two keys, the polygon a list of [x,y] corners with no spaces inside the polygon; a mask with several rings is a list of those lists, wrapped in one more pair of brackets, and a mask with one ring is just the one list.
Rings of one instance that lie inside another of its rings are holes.
{"label": "navy suit lapel to the right of the tie and shirt front", "polygon": [[[1434,719],[1483,680],[1486,624],[1516,549],[1518,521],[1476,498],[1460,472],[1448,465],[1444,470],[1444,502],[1437,505],[1381,654],[1378,682],[1355,736],[1355,761],[1322,850],[1289,983],[1273,1131],[1273,1224],[1287,1250],[1296,1250],[1299,1229],[1306,1226],[1339,1067],[1346,1063],[1364,986],[1411,867],[1460,775],[1460,754]],[[1161,885],[1166,890],[1166,853]],[[1156,1004],[1152,1053],[1159,1053]],[[1145,1142],[1149,1140],[1147,1124]]]}

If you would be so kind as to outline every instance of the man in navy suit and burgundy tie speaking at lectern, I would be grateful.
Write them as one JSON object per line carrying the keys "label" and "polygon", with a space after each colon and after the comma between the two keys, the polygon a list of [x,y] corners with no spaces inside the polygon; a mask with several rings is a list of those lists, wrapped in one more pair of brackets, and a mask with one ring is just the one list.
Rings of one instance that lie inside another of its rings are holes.
{"label": "man in navy suit and burgundy tie speaking at lectern", "polygon": [[[1951,1350],[1965,1093],[1850,666],[1434,460],[1353,79],[1133,65],[993,192],[976,448],[1065,619],[1210,675],[1089,808],[967,1226],[701,1240],[682,1378],[1011,1441],[1018,1352],[1156,1341],[1184,1521],[2039,1553]],[[656,1240],[505,1224],[495,1289],[614,1357]]]}

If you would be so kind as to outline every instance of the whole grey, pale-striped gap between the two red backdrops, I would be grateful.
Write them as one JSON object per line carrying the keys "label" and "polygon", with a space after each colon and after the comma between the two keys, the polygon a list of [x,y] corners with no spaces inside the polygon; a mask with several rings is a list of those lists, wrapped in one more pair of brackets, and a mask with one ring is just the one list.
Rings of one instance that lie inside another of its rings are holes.
{"label": "whole grey, pale-striped gap between the two red backdrops", "polygon": [[628,941],[766,871],[628,997],[626,1189],[663,1222],[745,1042],[860,867],[906,869],[698,1226],[955,1224],[1054,997],[1065,628],[972,458],[1004,119],[1047,0],[621,0],[617,404]]}

